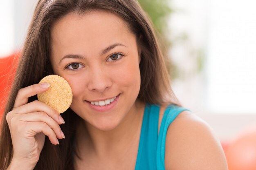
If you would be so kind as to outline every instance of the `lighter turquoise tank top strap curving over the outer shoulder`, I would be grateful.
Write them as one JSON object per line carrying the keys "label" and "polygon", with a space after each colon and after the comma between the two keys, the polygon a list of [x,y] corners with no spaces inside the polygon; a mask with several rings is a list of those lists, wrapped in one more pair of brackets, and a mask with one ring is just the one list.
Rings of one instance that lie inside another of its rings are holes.
{"label": "lighter turquoise tank top strap curving over the outer shoulder", "polygon": [[188,110],[186,108],[182,108],[176,105],[167,106],[164,111],[164,115],[162,118],[158,141],[157,141],[157,170],[165,170],[164,167],[164,157],[165,157],[165,143],[166,143],[166,133],[169,125],[173,122],[173,120],[184,110]]}

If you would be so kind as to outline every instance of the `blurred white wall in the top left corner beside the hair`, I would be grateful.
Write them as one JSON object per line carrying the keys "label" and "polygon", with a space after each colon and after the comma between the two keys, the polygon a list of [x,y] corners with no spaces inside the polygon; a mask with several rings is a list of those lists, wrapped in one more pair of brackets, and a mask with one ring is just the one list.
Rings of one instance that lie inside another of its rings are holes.
{"label": "blurred white wall in the top left corner beside the hair", "polygon": [[22,48],[37,1],[0,1],[0,57]]}

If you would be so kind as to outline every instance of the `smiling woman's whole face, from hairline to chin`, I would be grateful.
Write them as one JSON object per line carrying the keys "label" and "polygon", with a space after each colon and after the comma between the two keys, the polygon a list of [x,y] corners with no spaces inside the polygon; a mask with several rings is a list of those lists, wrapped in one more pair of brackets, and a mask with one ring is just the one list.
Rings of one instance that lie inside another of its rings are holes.
{"label": "smiling woman's whole face, from hairline to chin", "polygon": [[51,38],[52,67],[69,82],[76,114],[111,130],[136,110],[139,49],[121,18],[106,11],[70,13],[54,24]]}

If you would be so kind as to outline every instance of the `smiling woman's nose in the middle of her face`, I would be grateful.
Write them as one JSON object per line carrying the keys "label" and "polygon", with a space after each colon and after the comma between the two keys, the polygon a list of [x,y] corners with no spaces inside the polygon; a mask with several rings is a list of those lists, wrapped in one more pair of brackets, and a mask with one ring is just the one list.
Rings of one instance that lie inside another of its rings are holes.
{"label": "smiling woman's nose in the middle of her face", "polygon": [[103,92],[112,86],[111,76],[103,68],[96,68],[90,71],[88,89],[90,91]]}

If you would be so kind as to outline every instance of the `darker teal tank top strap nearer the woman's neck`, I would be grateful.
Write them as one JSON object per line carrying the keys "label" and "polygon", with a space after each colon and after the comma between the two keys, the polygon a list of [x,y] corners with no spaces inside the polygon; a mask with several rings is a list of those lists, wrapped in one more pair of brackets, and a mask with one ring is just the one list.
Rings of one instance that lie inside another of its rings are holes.
{"label": "darker teal tank top strap nearer the woman's neck", "polygon": [[135,170],[155,170],[159,106],[146,104]]}

